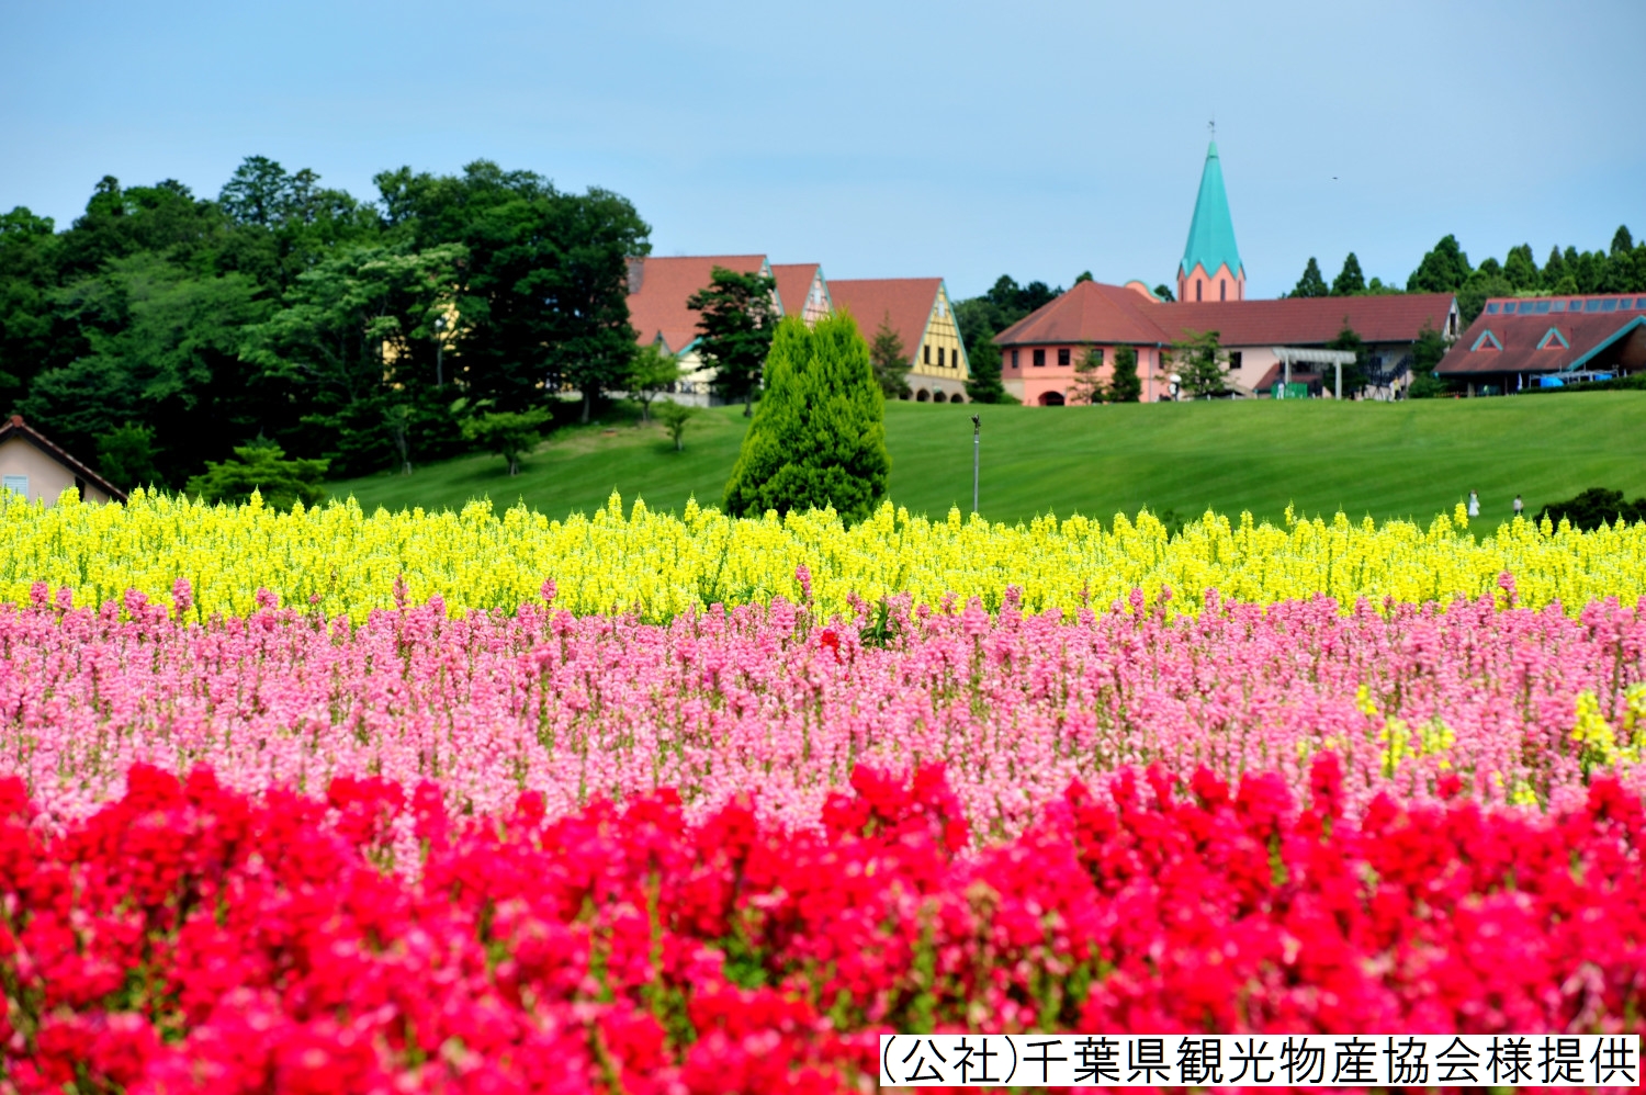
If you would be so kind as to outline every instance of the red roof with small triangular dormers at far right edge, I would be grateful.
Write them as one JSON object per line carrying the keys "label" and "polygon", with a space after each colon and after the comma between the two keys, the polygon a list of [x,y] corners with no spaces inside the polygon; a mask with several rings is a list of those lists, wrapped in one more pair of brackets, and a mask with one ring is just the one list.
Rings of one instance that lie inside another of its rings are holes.
{"label": "red roof with small triangular dormers at far right edge", "polygon": [[[1585,300],[1616,303],[1613,311],[1554,311],[1555,301],[1570,308],[1570,298],[1554,298],[1547,301],[1549,308],[1536,311],[1542,300],[1488,301],[1488,308],[1498,305],[1498,315],[1481,311],[1440,361],[1437,372],[1442,375],[1557,372],[1585,362],[1595,351],[1618,339],[1626,339],[1618,351],[1623,359],[1620,364],[1630,369],[1646,367],[1646,308],[1636,305],[1636,296],[1580,296],[1577,305],[1583,306]],[[1621,308],[1625,301],[1630,308]],[[1646,296],[1639,301],[1646,303]],[[1503,313],[1504,303],[1514,315]],[[1529,305],[1531,311],[1523,315],[1519,311],[1523,303]],[[1626,329],[1631,324],[1633,329]],[[1551,331],[1559,334],[1551,336]],[[1480,349],[1475,349],[1476,344]]]}

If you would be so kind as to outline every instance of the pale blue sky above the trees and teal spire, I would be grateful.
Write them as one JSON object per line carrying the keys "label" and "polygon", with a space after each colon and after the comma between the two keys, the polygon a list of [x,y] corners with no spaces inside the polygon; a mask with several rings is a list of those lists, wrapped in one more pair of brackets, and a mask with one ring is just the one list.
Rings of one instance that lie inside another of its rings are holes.
{"label": "pale blue sky above the trees and teal spire", "polygon": [[369,198],[476,158],[604,186],[655,254],[1170,280],[1215,115],[1249,291],[1646,232],[1646,3],[7,5],[0,209],[247,155]]}

